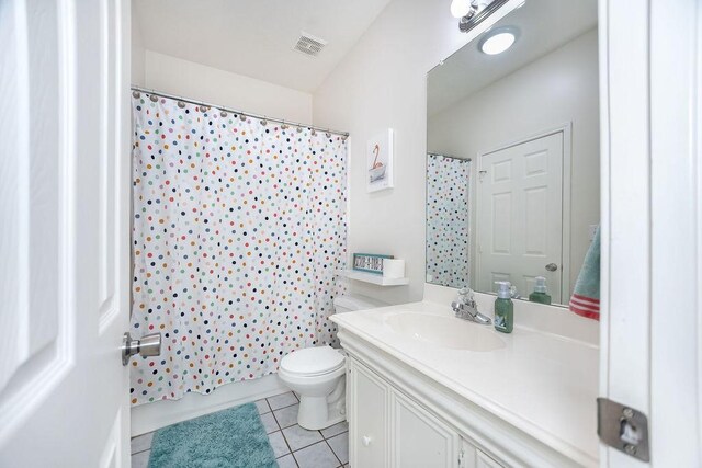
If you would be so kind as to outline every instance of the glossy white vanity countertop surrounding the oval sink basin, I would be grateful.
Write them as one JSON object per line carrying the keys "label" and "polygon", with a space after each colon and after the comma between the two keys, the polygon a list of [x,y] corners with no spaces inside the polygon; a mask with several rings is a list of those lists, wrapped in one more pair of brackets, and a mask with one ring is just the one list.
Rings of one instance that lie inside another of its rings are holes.
{"label": "glossy white vanity countertop surrounding the oval sink basin", "polygon": [[511,334],[472,323],[496,333],[506,346],[451,350],[393,331],[385,319],[401,311],[453,317],[449,306],[423,301],[331,320],[577,463],[598,465],[597,345],[517,323]]}

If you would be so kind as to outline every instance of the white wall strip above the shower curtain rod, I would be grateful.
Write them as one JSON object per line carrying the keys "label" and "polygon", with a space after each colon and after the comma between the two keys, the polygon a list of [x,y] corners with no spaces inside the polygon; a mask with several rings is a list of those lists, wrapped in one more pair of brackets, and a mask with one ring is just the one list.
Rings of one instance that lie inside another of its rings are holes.
{"label": "white wall strip above the shower curtain rod", "polygon": [[237,111],[312,123],[312,94],[146,50],[145,87]]}

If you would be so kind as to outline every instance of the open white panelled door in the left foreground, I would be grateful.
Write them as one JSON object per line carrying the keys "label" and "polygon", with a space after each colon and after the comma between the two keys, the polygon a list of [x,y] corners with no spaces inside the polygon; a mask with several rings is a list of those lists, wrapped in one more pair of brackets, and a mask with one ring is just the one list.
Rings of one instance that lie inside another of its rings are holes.
{"label": "open white panelled door in the left foreground", "polygon": [[129,464],[128,7],[0,1],[2,467]]}

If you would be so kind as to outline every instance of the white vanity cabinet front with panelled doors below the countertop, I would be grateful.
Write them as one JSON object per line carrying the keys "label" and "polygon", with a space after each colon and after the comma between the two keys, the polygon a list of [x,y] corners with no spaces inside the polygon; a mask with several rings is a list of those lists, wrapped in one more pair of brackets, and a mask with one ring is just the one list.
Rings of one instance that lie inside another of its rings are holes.
{"label": "white vanity cabinet front with panelled doors below the countertop", "polygon": [[461,437],[389,380],[349,357],[350,464],[363,468],[497,468],[502,465]]}

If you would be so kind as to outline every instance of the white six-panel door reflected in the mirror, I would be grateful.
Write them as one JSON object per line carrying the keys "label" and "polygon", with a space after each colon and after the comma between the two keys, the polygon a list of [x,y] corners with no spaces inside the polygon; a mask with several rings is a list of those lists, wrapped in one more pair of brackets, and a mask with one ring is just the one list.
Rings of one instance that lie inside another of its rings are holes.
{"label": "white six-panel door reflected in the mirror", "polygon": [[509,281],[528,296],[544,276],[553,303],[563,272],[563,132],[480,155],[477,289]]}

